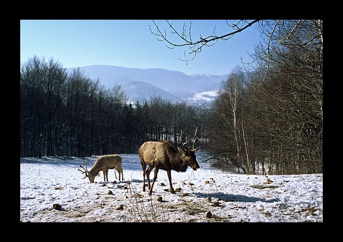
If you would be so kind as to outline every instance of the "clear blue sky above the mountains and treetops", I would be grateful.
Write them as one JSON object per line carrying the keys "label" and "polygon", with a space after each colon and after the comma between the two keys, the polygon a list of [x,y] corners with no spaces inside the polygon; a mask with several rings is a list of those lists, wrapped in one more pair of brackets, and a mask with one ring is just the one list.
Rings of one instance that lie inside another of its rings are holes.
{"label": "clear blue sky above the mountains and treetops", "polygon": [[[155,21],[161,30],[172,37],[165,20]],[[169,20],[178,30],[190,20]],[[169,49],[165,42],[151,34],[152,20],[20,20],[20,63],[33,55],[53,58],[65,68],[90,65],[110,65],[127,68],[161,68],[187,74],[229,74],[237,65],[251,59],[258,41],[257,24],[226,41],[218,41],[205,47],[195,59],[186,65],[184,58],[188,48]],[[231,32],[225,20],[192,20],[192,39],[213,34]]]}

